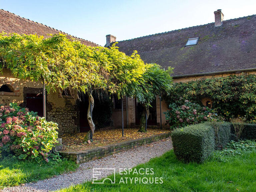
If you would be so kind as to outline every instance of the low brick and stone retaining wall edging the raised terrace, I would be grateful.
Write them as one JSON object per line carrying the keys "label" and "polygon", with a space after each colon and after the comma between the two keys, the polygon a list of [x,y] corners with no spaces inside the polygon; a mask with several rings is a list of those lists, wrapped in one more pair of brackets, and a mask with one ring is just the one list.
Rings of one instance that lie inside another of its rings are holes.
{"label": "low brick and stone retaining wall edging the raised terrace", "polygon": [[114,143],[111,145],[106,145],[106,146],[97,147],[97,148],[88,149],[88,150],[79,151],[79,152],[59,151],[59,153],[61,156],[71,159],[76,163],[84,163],[86,161],[99,159],[101,157],[105,157],[114,153],[125,151],[134,147],[138,147],[147,143],[158,141],[170,136],[171,136],[171,132],[161,133],[159,135],[123,141],[121,143]]}

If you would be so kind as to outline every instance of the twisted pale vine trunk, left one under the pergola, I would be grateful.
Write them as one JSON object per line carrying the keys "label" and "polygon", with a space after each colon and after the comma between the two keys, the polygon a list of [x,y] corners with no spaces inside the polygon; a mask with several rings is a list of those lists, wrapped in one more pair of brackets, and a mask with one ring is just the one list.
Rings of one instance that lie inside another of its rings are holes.
{"label": "twisted pale vine trunk, left one under the pergola", "polygon": [[93,136],[94,131],[95,131],[95,125],[94,125],[93,120],[92,120],[92,110],[93,110],[93,107],[94,107],[94,99],[93,99],[93,96],[92,96],[92,92],[88,93],[88,99],[89,99],[89,106],[88,106],[88,112],[87,112],[87,120],[88,120],[88,123],[89,123],[89,126],[90,126],[90,131],[87,133],[87,135],[85,137],[85,141],[88,141],[88,140],[91,141],[91,134]]}

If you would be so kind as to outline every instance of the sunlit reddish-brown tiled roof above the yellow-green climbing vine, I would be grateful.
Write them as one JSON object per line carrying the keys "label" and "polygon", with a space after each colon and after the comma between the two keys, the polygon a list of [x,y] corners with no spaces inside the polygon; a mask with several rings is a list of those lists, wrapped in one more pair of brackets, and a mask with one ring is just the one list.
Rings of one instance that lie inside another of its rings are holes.
{"label": "sunlit reddish-brown tiled roof above the yellow-green climbing vine", "polygon": [[87,41],[84,39],[80,39],[74,36],[71,36],[67,33],[64,33],[62,31],[59,31],[57,29],[48,27],[46,25],[43,25],[42,23],[37,23],[34,21],[31,21],[29,19],[25,19],[23,17],[20,17],[18,15],[15,15],[14,13],[10,13],[9,11],[5,11],[3,9],[0,9],[0,32],[5,33],[18,33],[18,34],[37,34],[39,36],[43,35],[44,37],[50,37],[49,34],[65,34],[67,38],[74,38],[84,45],[96,47],[99,46],[96,43],[93,43],[91,41]]}

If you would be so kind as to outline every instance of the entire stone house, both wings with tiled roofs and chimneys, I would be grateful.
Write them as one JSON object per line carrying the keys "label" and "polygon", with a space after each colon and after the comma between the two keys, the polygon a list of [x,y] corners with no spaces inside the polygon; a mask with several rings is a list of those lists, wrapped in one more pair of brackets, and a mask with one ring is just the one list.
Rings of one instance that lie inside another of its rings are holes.
{"label": "entire stone house, both wings with tiled roofs and chimneys", "polygon": [[[241,72],[255,73],[256,15],[224,21],[221,10],[214,14],[214,23],[119,41],[117,46],[127,55],[137,50],[147,63],[157,63],[163,68],[174,67],[174,82]],[[4,10],[0,10],[0,31],[37,34],[46,38],[48,34],[63,33],[87,46],[99,46]],[[105,46],[109,47],[115,41],[115,36],[107,35]],[[17,79],[4,70],[0,74],[0,104],[16,102],[42,115],[42,87],[41,81]],[[210,98],[202,102],[206,105]],[[165,101],[157,97],[151,105],[148,125],[164,127]],[[75,95],[63,90],[47,93],[47,120],[59,124],[60,134],[88,131],[87,106],[86,99],[79,101]],[[124,98],[123,108],[125,127],[138,125],[142,108],[136,98]],[[113,99],[111,120],[114,127],[121,126],[121,102],[117,98]]]}

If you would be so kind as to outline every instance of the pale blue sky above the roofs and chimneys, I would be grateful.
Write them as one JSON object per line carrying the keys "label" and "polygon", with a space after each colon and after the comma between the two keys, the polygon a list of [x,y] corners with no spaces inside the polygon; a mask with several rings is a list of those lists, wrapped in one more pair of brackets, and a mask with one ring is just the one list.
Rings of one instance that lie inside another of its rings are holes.
{"label": "pale blue sky above the roofs and chimneys", "polygon": [[101,46],[117,41],[256,14],[256,0],[0,0],[0,9]]}

